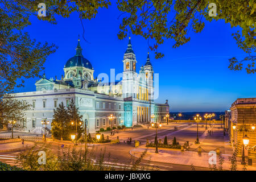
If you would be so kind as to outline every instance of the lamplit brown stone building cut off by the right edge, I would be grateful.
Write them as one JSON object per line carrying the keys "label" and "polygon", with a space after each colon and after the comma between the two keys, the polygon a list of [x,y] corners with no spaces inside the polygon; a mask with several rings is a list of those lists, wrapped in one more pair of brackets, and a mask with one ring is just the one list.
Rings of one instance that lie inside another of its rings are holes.
{"label": "lamplit brown stone building cut off by the right edge", "polygon": [[[242,138],[247,135],[249,144],[245,147],[249,157],[256,157],[256,98],[238,98],[230,107],[230,141],[240,143],[241,155]],[[234,126],[234,127],[233,127]]]}

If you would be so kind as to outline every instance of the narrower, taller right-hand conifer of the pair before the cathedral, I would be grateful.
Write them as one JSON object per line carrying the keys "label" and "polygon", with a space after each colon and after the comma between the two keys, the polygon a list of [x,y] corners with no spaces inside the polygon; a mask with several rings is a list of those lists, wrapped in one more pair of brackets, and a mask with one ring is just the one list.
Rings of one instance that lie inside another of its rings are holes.
{"label": "narrower, taller right-hand conifer of the pair before the cathedral", "polygon": [[[79,114],[79,108],[76,107],[75,101],[72,99],[71,102],[68,105],[68,115],[70,121],[73,121],[75,125],[72,127],[72,132],[77,131],[77,139],[81,137],[82,132],[84,129],[82,128],[82,115]],[[81,123],[81,125],[80,125]]]}

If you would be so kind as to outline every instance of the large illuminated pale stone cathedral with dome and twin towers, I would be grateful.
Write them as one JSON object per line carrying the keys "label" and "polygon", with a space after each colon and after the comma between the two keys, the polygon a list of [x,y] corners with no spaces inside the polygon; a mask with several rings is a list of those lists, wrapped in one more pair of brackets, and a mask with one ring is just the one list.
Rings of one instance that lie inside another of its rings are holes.
{"label": "large illuminated pale stone cathedral with dome and twin towers", "polygon": [[[136,68],[137,60],[129,38],[123,55],[122,80],[98,80],[93,75],[92,64],[82,55],[79,39],[76,55],[65,63],[64,76],[60,80],[43,75],[35,83],[35,92],[15,94],[16,99],[26,100],[32,105],[26,111],[27,122],[23,130],[42,133],[43,119],[50,122],[47,128],[51,129],[53,109],[61,102],[68,106],[71,99],[79,108],[83,121],[88,123],[86,127],[90,133],[113,126],[132,127],[141,123],[165,122],[164,117],[170,110],[168,100],[165,104],[154,102],[154,70],[149,53],[139,73]],[[109,120],[110,114],[114,115],[113,120]],[[151,118],[152,114],[155,118]]]}

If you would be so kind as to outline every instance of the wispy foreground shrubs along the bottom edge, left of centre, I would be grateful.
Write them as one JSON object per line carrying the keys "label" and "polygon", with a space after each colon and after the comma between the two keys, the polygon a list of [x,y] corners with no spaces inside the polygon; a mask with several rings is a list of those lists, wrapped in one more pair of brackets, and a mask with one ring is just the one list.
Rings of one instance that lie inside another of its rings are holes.
{"label": "wispy foreground shrubs along the bottom edge, left of centre", "polygon": [[[110,162],[110,153],[106,155],[106,148],[100,150],[100,154],[97,154],[97,149],[94,147],[86,152],[82,150],[76,150],[75,148],[69,148],[68,151],[61,150],[60,152],[53,153],[50,146],[37,147],[34,146],[31,149],[26,149],[18,154],[16,162],[28,171],[114,171],[118,163],[118,160]],[[38,164],[38,152],[46,152],[46,164]],[[28,155],[28,157],[26,157]],[[146,170],[155,169],[152,167],[142,166],[141,162],[146,155],[146,150],[141,154],[140,158],[134,160],[131,157],[131,163],[123,164],[119,170]],[[108,165],[112,163],[113,165]]]}

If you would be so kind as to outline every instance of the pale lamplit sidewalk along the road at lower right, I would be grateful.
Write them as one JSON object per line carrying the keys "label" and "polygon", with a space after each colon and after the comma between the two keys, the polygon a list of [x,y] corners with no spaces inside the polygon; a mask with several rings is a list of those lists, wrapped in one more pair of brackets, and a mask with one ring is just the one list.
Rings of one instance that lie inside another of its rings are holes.
{"label": "pale lamplit sidewalk along the road at lower right", "polygon": [[[134,148],[130,150],[130,155],[139,158],[142,152],[146,149],[145,148]],[[195,167],[205,167],[209,168],[209,158],[211,157],[208,153],[202,152],[198,154],[197,152],[191,151],[177,151],[177,150],[162,150],[158,149],[159,153],[155,153],[155,148],[148,148],[146,156],[144,156],[144,160],[150,160],[152,162],[162,162],[162,163],[170,163],[170,164],[181,164],[186,166],[193,166]],[[222,167],[226,170],[229,170],[231,163],[229,162],[228,157],[230,155],[222,155],[224,158],[224,164]],[[218,155],[217,157],[217,166],[218,166]],[[237,170],[242,170],[243,166],[240,164],[241,159],[238,158],[237,161]],[[253,166],[246,166],[247,170],[255,171],[255,161],[253,161]]]}

